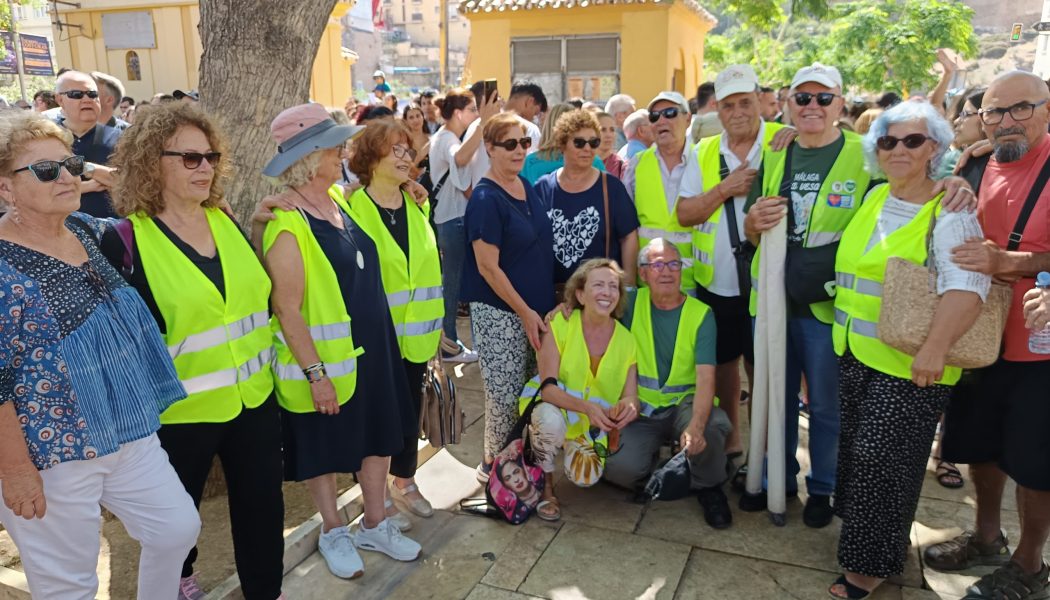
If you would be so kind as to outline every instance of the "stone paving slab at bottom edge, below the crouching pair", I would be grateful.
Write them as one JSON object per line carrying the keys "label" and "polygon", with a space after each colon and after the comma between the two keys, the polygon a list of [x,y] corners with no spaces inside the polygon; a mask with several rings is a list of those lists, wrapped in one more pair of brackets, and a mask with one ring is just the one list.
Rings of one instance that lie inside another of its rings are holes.
{"label": "stone paving slab at bottom edge, below the crouching pair", "polygon": [[519,592],[542,598],[670,599],[689,546],[567,522]]}

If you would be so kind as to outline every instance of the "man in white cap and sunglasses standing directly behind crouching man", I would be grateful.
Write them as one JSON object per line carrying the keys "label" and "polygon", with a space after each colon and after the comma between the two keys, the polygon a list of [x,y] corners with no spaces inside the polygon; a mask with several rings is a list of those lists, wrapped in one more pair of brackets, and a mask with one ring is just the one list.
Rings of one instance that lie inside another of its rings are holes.
{"label": "man in white cap and sunglasses standing directly behind crouching man", "polygon": [[649,103],[653,146],[627,164],[624,185],[638,211],[638,246],[663,237],[681,254],[681,290],[695,293],[692,227],[678,223],[678,184],[686,172],[689,104],[677,91],[662,91]]}

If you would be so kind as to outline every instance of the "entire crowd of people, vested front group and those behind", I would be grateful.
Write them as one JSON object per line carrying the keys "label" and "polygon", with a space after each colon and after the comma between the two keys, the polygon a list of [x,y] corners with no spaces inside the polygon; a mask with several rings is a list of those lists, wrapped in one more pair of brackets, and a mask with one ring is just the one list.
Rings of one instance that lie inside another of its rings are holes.
{"label": "entire crowd of people, vested front group and those behind", "polygon": [[[947,488],[970,465],[978,516],[927,564],[996,566],[967,599],[1047,598],[1050,342],[1031,340],[1050,320],[1050,275],[1034,285],[1050,271],[1050,89],[1012,71],[949,95],[956,62],[938,60],[928,97],[875,103],[819,63],[782,85],[732,65],[692,99],[642,105],[491,80],[405,102],[376,71],[361,101],[275,111],[262,174],[280,190],[248,230],[223,191],[236,131],[196,90],[136,102],[64,69],[0,112],[0,521],[30,589],[94,593],[104,506],[142,544],[140,598],[203,598],[194,506],[216,457],[249,600],[284,598],[282,481],[309,489],[334,575],[361,576],[359,550],[416,560],[405,532],[435,513],[415,481],[430,361],[480,365],[482,483],[542,398],[526,429],[546,477],[537,517],[562,516],[559,472],[644,497],[671,446],[724,530],[769,311],[786,323],[786,494],[804,475],[804,524],[842,520],[828,593],[864,598],[903,573],[932,456]],[[770,307],[778,228],[786,297]],[[914,354],[878,335],[890,260],[937,272]],[[1013,293],[1002,357],[964,372],[948,352],[993,283]],[[340,473],[361,484],[353,526]]]}

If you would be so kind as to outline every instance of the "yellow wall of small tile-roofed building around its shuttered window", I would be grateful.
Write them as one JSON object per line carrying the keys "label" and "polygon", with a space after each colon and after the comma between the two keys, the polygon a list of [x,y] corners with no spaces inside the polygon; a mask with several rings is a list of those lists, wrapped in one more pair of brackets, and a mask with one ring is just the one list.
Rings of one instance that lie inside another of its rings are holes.
{"label": "yellow wall of small tile-roofed building around its shuttered window", "polygon": [[[510,88],[510,41],[514,38],[612,34],[620,36],[620,90],[645,103],[678,84],[692,96],[702,76],[704,37],[711,24],[679,4],[613,4],[558,9],[470,13],[467,70],[472,81],[496,78]],[[653,51],[667,40],[667,51]],[[685,66],[681,67],[680,65]]]}

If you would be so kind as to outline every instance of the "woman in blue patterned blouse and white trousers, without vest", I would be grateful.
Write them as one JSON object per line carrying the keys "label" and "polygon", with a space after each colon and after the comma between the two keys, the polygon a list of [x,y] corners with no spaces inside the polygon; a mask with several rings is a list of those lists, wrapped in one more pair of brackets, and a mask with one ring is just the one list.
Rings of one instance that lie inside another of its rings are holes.
{"label": "woman in blue patterned blouse and white trousers, without vest", "polygon": [[80,207],[84,158],[0,116],[0,521],[35,598],[93,598],[105,506],[142,544],[139,598],[173,598],[201,521],[155,435],[186,396],[156,325]]}

